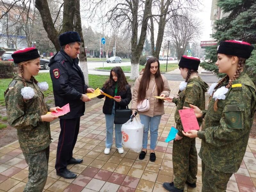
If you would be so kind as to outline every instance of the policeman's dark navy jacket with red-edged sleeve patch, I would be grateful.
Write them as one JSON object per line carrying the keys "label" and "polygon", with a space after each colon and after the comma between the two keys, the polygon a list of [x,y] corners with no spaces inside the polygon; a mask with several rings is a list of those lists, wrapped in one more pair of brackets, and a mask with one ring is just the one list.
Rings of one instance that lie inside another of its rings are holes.
{"label": "policeman's dark navy jacket with red-edged sleeve patch", "polygon": [[84,82],[84,74],[78,66],[79,59],[71,59],[61,49],[50,60],[50,74],[52,78],[55,106],[69,103],[70,112],[60,119],[72,119],[84,115],[85,103],[80,100],[86,93],[88,86]]}

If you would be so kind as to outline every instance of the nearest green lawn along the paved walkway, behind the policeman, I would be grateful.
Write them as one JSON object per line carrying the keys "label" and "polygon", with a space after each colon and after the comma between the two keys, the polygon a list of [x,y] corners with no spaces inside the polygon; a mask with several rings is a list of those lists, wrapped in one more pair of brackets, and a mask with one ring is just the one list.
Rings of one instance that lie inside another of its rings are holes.
{"label": "nearest green lawn along the paved walkway, behind the policeman", "polygon": [[[89,75],[89,86],[92,88],[102,87],[102,85],[105,83],[105,81],[109,78],[109,76],[103,76],[103,75]],[[44,96],[52,96],[53,97],[53,91],[52,91],[52,80],[50,77],[50,73],[39,73],[36,76],[36,80],[38,82],[46,81],[49,85],[49,89],[44,92]],[[7,79],[0,79],[0,105],[5,106],[4,102],[4,91],[7,89],[9,83],[12,81],[12,78]],[[130,80],[129,77],[127,77],[127,81],[134,82],[133,80]],[[53,99],[54,100],[54,99]]]}

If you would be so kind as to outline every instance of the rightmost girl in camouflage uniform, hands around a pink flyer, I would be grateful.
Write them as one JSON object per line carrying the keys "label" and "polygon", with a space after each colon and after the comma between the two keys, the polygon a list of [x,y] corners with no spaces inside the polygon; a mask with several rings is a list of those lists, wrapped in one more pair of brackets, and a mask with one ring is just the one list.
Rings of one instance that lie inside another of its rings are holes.
{"label": "rightmost girl in camouflage uniform, hands around a pink flyer", "polygon": [[220,42],[216,65],[227,76],[213,85],[207,113],[191,105],[197,117],[204,117],[202,131],[183,133],[202,139],[203,192],[226,191],[229,178],[242,163],[256,110],[255,85],[243,72],[252,50],[246,42]]}

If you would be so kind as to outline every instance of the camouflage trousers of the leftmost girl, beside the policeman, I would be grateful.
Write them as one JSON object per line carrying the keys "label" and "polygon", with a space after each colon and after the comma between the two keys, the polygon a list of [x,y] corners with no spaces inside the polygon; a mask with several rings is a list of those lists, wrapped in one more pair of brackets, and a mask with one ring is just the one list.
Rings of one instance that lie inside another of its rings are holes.
{"label": "camouflage trousers of the leftmost girl, beside the policeman", "polygon": [[28,183],[23,192],[42,192],[48,175],[50,147],[36,153],[23,153],[28,164]]}

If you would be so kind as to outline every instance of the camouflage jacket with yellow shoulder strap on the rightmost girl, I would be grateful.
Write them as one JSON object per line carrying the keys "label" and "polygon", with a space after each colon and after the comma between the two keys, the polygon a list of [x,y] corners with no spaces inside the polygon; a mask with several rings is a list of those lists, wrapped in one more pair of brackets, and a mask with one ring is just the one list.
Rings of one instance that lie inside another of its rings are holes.
{"label": "camouflage jacket with yellow shoulder strap on the rightmost girl", "polygon": [[[221,86],[228,84],[224,82]],[[199,152],[204,164],[213,170],[234,173],[242,163],[253,115],[256,110],[256,88],[251,79],[242,72],[225,94],[225,100],[210,100],[208,111],[198,137],[202,139]]]}

